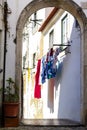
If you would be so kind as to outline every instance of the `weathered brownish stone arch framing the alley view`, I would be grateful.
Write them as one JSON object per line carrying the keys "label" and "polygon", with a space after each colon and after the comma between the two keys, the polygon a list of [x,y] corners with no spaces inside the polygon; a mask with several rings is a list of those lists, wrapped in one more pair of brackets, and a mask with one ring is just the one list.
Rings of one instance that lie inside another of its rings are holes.
{"label": "weathered brownish stone arch framing the alley view", "polygon": [[[83,123],[86,123],[86,115],[87,115],[87,19],[85,14],[83,13],[82,9],[72,0],[34,0],[30,2],[21,12],[16,28],[16,83],[21,88],[21,68],[22,68],[22,30],[25,25],[26,20],[33,14],[35,11],[40,10],[41,8],[45,7],[59,7],[68,12],[70,12],[79,22],[81,33],[83,34],[81,37],[81,53],[82,53],[82,93],[81,93],[81,120]],[[21,94],[21,89],[20,89]],[[20,98],[21,102],[21,98]],[[21,112],[21,107],[20,107]],[[21,114],[20,114],[21,115]]]}

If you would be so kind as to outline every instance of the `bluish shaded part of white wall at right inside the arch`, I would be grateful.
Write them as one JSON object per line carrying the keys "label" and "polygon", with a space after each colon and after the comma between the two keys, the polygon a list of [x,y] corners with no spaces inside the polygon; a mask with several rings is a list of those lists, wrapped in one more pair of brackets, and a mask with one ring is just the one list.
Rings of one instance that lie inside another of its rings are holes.
{"label": "bluish shaded part of white wall at right inside the arch", "polygon": [[[81,113],[81,39],[80,32],[70,16],[70,52],[63,59],[63,70],[60,81],[58,117],[80,121]],[[72,28],[73,27],[73,28]],[[71,30],[72,29],[72,30]]]}

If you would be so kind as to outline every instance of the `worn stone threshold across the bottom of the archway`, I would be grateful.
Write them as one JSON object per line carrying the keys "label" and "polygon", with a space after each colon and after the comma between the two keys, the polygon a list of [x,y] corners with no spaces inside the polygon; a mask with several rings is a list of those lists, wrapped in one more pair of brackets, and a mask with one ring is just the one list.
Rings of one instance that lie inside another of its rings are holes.
{"label": "worn stone threshold across the bottom of the archway", "polygon": [[80,122],[69,119],[22,119],[21,125],[25,126],[83,126]]}

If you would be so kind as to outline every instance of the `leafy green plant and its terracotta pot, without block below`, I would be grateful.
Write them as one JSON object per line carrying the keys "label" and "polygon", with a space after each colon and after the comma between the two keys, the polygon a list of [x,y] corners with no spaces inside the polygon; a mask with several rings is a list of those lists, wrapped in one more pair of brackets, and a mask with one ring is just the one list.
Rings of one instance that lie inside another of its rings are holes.
{"label": "leafy green plant and its terracotta pot, without block below", "polygon": [[5,116],[17,116],[19,106],[18,87],[12,78],[6,80],[7,86],[4,89],[4,114]]}

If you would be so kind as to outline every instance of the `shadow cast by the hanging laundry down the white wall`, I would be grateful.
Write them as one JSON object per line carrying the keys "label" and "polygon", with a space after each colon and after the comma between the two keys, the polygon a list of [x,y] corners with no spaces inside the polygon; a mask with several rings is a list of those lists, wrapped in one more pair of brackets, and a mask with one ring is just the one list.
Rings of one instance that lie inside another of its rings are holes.
{"label": "shadow cast by the hanging laundry down the white wall", "polygon": [[48,80],[48,108],[50,108],[50,113],[54,113],[55,111],[54,103],[56,98],[56,91],[61,81],[62,67],[63,67],[63,62],[58,61],[56,77]]}

